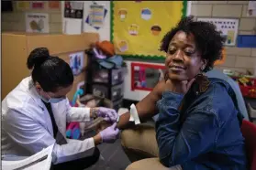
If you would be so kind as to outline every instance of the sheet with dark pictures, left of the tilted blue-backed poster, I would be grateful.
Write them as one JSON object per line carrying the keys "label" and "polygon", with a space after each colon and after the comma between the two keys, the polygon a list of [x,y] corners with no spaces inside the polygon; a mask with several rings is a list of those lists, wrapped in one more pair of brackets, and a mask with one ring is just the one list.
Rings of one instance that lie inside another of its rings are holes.
{"label": "sheet with dark pictures, left of the tilted blue-backed poster", "polygon": [[83,2],[65,1],[64,17],[83,19]]}

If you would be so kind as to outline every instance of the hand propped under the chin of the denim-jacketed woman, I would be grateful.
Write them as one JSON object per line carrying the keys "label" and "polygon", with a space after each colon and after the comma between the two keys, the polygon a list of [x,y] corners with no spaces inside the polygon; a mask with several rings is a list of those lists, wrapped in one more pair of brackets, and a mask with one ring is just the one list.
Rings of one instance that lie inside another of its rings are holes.
{"label": "hand propped under the chin of the denim-jacketed woman", "polygon": [[195,79],[192,80],[183,80],[183,81],[178,81],[178,80],[166,80],[165,81],[165,90],[170,90],[172,92],[180,93],[180,94],[185,94],[193,84]]}

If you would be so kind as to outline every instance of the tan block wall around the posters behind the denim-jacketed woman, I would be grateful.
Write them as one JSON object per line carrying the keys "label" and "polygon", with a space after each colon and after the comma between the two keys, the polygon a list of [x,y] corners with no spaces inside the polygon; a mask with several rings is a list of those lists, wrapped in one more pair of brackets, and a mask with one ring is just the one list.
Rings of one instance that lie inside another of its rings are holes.
{"label": "tan block wall around the posters behind the denim-jacketed woman", "polygon": [[[256,17],[246,15],[248,1],[193,1],[191,14],[204,17],[239,18],[239,34],[256,34]],[[256,69],[256,48],[227,47],[227,60],[218,69],[252,73]]]}

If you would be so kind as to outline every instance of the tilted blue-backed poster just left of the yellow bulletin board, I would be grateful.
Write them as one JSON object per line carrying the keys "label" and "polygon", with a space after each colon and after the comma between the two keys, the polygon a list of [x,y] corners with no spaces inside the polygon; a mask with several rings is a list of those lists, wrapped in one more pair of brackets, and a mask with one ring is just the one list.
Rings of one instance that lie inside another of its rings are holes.
{"label": "tilted blue-backed poster just left of the yellow bulletin board", "polygon": [[105,5],[90,5],[89,15],[86,17],[85,22],[95,29],[100,29],[104,27],[104,20],[106,17],[106,7]]}

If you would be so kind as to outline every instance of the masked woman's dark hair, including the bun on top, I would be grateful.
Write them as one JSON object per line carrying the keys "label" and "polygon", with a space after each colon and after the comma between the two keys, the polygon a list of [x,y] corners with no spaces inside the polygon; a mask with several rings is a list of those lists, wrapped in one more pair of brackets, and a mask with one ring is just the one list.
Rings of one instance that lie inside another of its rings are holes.
{"label": "masked woman's dark hair, including the bun on top", "polygon": [[69,64],[63,59],[50,56],[48,48],[35,48],[27,60],[28,69],[32,70],[32,80],[39,82],[41,88],[55,92],[72,85],[73,74]]}

